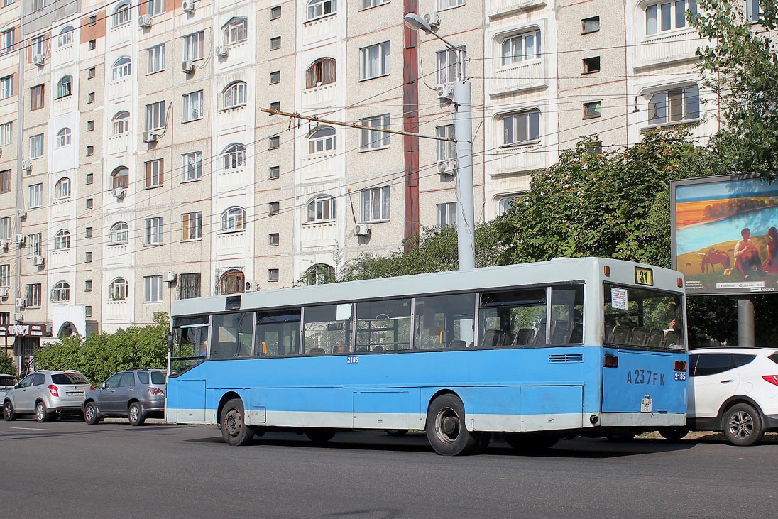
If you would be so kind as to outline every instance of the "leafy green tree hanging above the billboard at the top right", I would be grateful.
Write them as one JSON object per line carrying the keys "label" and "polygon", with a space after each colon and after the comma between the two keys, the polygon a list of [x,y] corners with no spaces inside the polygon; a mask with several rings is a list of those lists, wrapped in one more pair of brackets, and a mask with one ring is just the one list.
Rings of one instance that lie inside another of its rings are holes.
{"label": "leafy green tree hanging above the billboard at the top right", "polygon": [[[719,97],[724,129],[710,146],[735,171],[773,181],[778,168],[778,4],[760,0],[759,23],[741,0],[698,0],[689,23],[712,43],[698,51],[705,84]],[[771,34],[772,31],[772,34]],[[731,173],[732,170],[728,171]]]}

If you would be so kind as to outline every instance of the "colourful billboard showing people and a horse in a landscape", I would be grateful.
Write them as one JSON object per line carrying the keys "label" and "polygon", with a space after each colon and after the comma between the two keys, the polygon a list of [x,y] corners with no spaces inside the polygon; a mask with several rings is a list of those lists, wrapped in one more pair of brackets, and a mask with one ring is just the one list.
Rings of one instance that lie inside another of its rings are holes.
{"label": "colourful billboard showing people and a horse in a landscape", "polygon": [[672,181],[673,268],[686,293],[778,292],[778,183],[755,175]]}

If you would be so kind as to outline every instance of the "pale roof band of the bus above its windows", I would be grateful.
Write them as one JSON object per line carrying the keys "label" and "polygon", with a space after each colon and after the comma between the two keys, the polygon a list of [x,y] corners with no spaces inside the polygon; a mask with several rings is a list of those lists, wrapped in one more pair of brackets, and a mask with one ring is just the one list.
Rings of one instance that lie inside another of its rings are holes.
{"label": "pale roof band of the bus above its windows", "polygon": [[601,267],[608,265],[612,282],[633,284],[636,266],[652,269],[654,287],[683,292],[676,280],[680,272],[608,258],[555,258],[551,261],[474,268],[468,271],[431,272],[394,278],[366,279],[233,293],[195,299],[174,300],[171,317],[212,314],[226,310],[226,298],[240,296],[240,308],[282,309],[310,304],[342,303],[359,300],[380,300],[402,296],[442,295],[468,291],[503,289],[516,286],[545,285],[559,282],[594,281],[602,275]]}

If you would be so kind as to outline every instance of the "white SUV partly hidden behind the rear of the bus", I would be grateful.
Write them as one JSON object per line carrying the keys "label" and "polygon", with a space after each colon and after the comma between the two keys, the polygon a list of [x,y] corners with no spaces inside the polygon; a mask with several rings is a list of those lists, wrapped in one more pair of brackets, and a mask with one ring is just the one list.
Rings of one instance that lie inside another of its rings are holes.
{"label": "white SUV partly hidden behind the rear of the bus", "polygon": [[733,445],[753,445],[778,430],[778,349],[690,351],[687,423],[723,430]]}

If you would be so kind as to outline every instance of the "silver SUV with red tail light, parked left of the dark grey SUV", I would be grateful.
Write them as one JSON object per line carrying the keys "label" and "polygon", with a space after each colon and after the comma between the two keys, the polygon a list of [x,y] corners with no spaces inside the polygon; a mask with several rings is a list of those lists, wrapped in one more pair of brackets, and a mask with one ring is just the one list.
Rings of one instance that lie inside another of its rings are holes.
{"label": "silver SUV with red tail light, parked left of the dark grey SUV", "polygon": [[79,414],[84,395],[92,389],[78,371],[36,371],[5,393],[3,415],[9,422],[32,414],[38,422],[48,422],[62,414]]}

